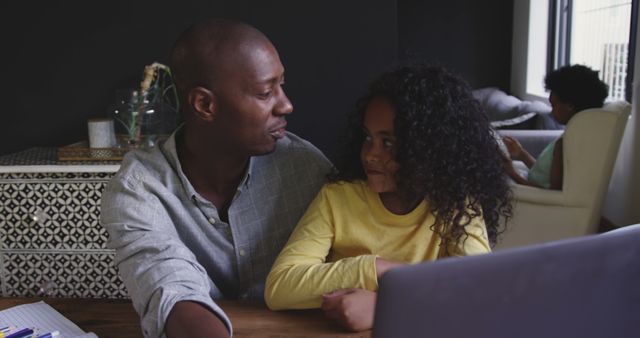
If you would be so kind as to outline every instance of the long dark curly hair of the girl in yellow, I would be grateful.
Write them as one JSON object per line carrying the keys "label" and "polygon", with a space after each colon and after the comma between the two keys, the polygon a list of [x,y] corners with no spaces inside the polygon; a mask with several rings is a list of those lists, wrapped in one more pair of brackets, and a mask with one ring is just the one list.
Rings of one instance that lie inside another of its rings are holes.
{"label": "long dark curly hair of the girl in yellow", "polygon": [[378,97],[395,108],[398,192],[429,202],[436,215],[431,229],[441,235],[441,244],[458,243],[463,235],[466,239],[464,227],[484,216],[495,245],[511,217],[511,189],[502,158],[470,87],[442,67],[402,66],[374,80],[348,115],[347,146],[329,180],[367,179],[360,161],[363,120],[367,106]]}

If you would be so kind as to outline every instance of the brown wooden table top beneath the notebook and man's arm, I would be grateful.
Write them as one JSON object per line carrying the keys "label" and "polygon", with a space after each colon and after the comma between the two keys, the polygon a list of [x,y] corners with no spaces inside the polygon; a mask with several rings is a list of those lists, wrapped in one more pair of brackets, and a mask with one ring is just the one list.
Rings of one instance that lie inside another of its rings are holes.
{"label": "brown wooden table top beneath the notebook and man's arm", "polygon": [[[0,310],[43,300],[100,338],[142,337],[130,300],[84,298],[0,298]],[[346,332],[320,310],[270,311],[259,302],[219,301],[233,323],[234,337],[371,337],[370,332]]]}

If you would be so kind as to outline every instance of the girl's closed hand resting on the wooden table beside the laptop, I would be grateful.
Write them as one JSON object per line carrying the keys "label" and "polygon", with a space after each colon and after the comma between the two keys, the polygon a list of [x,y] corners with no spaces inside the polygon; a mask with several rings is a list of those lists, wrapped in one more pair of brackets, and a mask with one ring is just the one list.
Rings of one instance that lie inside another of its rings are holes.
{"label": "girl's closed hand resting on the wooden table beside the laptop", "polygon": [[369,330],[373,327],[376,296],[363,289],[335,290],[322,295],[322,310],[347,330]]}

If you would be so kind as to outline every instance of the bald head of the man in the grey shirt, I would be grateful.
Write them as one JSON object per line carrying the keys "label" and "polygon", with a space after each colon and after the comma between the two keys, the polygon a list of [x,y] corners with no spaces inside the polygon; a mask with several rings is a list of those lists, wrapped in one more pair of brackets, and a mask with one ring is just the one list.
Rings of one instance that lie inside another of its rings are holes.
{"label": "bald head of the man in the grey shirt", "polygon": [[274,150],[293,107],[284,93],[284,67],[257,29],[210,20],[187,29],[171,53],[186,132],[206,146],[241,155]]}

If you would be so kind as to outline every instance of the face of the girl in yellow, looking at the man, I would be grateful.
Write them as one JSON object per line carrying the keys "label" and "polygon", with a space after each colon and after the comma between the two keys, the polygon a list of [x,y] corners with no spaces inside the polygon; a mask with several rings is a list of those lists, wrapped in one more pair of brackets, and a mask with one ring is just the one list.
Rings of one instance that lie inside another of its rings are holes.
{"label": "face of the girl in yellow, looking at the man", "polygon": [[360,152],[362,167],[371,189],[377,193],[397,190],[395,173],[396,137],[393,127],[395,109],[391,102],[377,97],[369,102],[364,114],[365,140]]}

